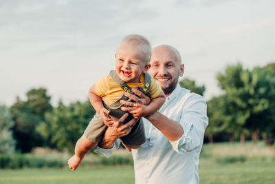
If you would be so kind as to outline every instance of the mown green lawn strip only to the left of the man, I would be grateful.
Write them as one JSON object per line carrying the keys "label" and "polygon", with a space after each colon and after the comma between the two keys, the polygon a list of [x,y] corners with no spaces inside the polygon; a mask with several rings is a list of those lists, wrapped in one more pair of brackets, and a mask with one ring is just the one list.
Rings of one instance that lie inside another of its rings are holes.
{"label": "mown green lawn strip only to the left of the man", "polygon": [[0,183],[134,183],[133,167],[98,167],[92,169],[80,169],[71,171],[69,169],[53,170],[0,170]]}

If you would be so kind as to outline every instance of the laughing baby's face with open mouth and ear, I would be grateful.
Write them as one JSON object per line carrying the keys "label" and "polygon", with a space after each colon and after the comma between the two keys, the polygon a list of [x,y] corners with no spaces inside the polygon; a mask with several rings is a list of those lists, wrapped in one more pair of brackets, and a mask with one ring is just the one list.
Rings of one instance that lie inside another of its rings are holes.
{"label": "laughing baby's face with open mouth and ear", "polygon": [[140,75],[148,69],[146,54],[138,46],[121,43],[115,54],[115,72],[126,83],[140,83]]}

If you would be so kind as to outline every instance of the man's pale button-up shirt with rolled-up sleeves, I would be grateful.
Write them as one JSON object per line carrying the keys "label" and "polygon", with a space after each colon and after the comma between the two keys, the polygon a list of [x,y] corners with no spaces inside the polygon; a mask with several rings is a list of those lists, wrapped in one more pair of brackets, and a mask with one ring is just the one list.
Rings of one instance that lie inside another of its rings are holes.
{"label": "man's pale button-up shirt with rolled-up sleeves", "polygon": [[[135,183],[199,183],[199,153],[208,125],[206,101],[178,84],[166,97],[159,112],[179,122],[184,134],[177,141],[169,141],[154,125],[143,119],[146,142],[139,149],[132,149]],[[119,143],[117,141],[113,148],[118,147]],[[112,154],[111,150],[99,147],[96,152],[107,157]]]}

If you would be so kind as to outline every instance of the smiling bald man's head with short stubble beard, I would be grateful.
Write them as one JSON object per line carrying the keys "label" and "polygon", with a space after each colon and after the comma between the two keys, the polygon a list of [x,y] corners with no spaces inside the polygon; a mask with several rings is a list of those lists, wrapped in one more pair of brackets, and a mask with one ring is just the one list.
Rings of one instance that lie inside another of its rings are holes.
{"label": "smiling bald man's head with short stubble beard", "polygon": [[158,46],[153,49],[150,64],[148,73],[168,96],[177,87],[179,76],[184,74],[184,65],[180,63],[177,52],[168,45]]}

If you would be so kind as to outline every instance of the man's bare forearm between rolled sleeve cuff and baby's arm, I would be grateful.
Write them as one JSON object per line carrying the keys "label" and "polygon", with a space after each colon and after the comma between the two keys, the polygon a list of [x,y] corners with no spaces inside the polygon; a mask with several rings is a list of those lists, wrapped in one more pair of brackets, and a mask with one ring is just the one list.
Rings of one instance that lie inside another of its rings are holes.
{"label": "man's bare forearm between rolled sleeve cuff and baby's arm", "polygon": [[150,116],[146,116],[146,119],[157,127],[169,141],[177,141],[184,134],[184,129],[177,121],[168,119],[168,117],[158,111]]}

